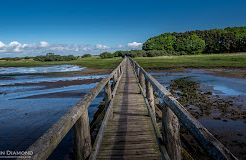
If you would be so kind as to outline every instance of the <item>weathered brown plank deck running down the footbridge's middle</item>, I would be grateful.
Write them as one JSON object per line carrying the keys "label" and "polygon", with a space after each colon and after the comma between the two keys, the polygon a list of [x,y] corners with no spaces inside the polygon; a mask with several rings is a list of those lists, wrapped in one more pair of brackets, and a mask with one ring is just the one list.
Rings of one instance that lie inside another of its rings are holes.
{"label": "weathered brown plank deck running down the footbridge's middle", "polygon": [[97,159],[161,159],[156,135],[129,60],[105,128]]}

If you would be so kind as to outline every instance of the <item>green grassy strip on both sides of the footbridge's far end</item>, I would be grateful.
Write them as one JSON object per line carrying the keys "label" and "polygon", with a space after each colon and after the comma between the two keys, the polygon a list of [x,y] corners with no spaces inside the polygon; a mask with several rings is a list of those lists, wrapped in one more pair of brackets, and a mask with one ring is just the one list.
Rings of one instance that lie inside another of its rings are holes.
{"label": "green grassy strip on both sides of the footbridge's far end", "polygon": [[[88,68],[113,69],[122,58],[89,57],[71,61],[41,62],[32,59],[18,61],[0,60],[0,67],[32,67],[44,65],[72,64]],[[246,68],[246,53],[202,54],[183,56],[137,57],[135,60],[146,69],[165,68]]]}

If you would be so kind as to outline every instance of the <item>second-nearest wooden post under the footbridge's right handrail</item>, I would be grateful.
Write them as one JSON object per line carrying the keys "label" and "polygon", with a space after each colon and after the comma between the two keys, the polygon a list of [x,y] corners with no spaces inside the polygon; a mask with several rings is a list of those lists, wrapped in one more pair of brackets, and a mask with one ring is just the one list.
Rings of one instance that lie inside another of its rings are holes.
{"label": "second-nearest wooden post under the footbridge's right handrail", "polygon": [[[153,111],[154,114],[154,118],[155,118],[155,97],[154,97],[154,91],[153,91],[153,87],[150,84],[150,82],[147,80],[147,78],[145,78],[145,85],[146,85],[146,97],[149,101],[149,105]],[[156,118],[155,118],[156,120]]]}

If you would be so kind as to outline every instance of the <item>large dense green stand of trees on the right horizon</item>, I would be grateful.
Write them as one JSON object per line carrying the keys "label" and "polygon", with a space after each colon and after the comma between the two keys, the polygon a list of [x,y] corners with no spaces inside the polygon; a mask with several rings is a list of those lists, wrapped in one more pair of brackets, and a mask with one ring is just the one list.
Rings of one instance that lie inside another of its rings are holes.
{"label": "large dense green stand of trees on the right horizon", "polygon": [[246,52],[246,27],[164,33],[148,39],[142,49],[176,54]]}

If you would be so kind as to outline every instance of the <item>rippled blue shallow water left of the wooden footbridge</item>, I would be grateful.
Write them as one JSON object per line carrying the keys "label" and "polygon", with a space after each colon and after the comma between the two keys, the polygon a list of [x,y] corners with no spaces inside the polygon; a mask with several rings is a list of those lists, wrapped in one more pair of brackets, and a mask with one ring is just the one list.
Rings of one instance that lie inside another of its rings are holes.
{"label": "rippled blue shallow water left of the wooden footbridge", "polygon": [[[105,74],[88,76],[68,74],[69,71],[83,72],[83,69],[71,65],[1,68],[0,150],[25,150],[90,89],[95,87],[96,81],[107,76]],[[61,71],[66,72],[66,76],[53,75],[50,77],[45,74],[33,74]],[[18,75],[15,75],[17,73]],[[81,84],[73,83],[75,80],[81,81]],[[83,80],[87,80],[86,83],[83,84]],[[90,82],[90,80],[93,80],[93,82]],[[61,84],[64,82],[66,85],[50,87],[54,82]],[[47,84],[49,84],[49,87],[45,86]],[[89,107],[90,120],[102,100],[102,94],[100,93]],[[70,154],[71,136],[71,133],[67,135],[68,138],[65,138],[65,142],[62,142],[65,147],[60,146],[60,151],[55,152],[51,159],[57,159],[59,156],[65,157]]]}

